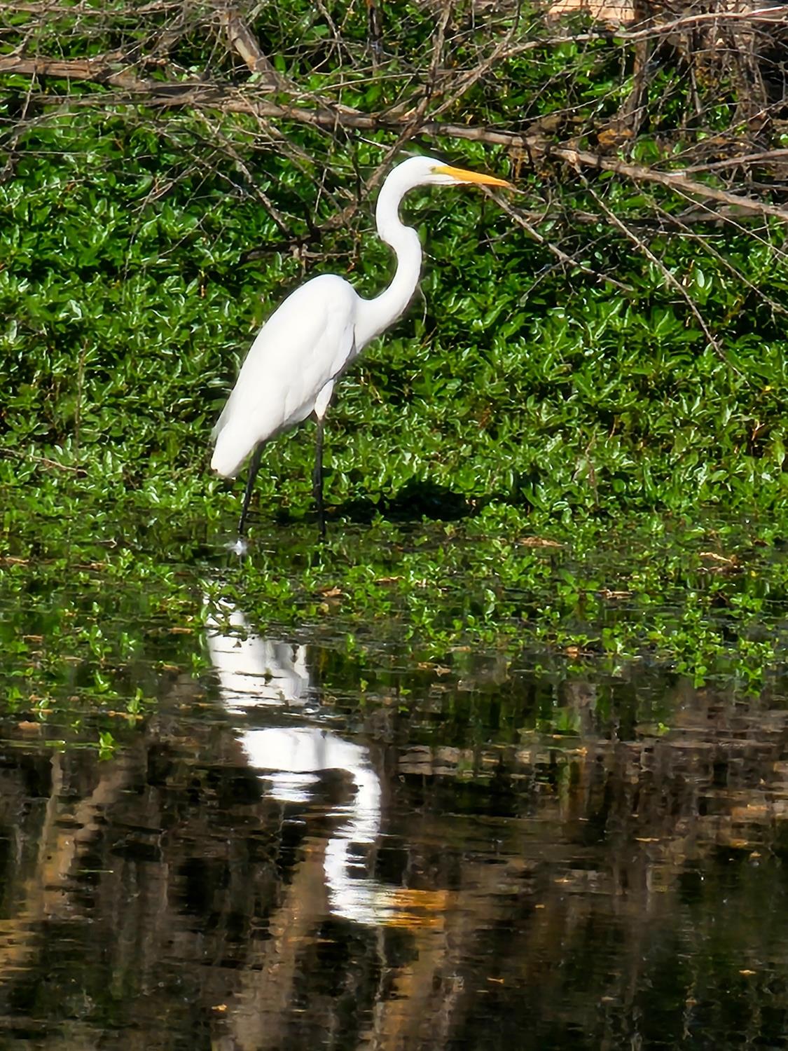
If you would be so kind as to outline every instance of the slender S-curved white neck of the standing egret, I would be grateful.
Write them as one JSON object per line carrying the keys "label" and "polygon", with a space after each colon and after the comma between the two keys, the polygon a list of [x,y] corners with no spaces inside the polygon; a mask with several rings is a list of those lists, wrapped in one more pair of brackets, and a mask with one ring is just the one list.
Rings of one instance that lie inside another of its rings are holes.
{"label": "slender S-curved white neck of the standing egret", "polygon": [[377,199],[375,219],[381,241],[394,249],[397,270],[391,285],[375,296],[362,300],[356,322],[356,349],[361,350],[406,310],[418,285],[421,272],[421,244],[412,226],[399,221],[399,202],[411,187],[389,178]]}

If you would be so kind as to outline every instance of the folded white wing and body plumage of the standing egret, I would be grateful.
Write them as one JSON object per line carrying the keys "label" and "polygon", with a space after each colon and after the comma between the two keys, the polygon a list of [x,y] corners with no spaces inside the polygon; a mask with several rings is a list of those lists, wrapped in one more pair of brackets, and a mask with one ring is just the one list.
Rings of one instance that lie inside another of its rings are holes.
{"label": "folded white wing and body plumage of the standing egret", "polygon": [[336,274],[297,288],[257,333],[213,434],[211,467],[232,476],[257,445],[313,411],[353,356],[358,296]]}

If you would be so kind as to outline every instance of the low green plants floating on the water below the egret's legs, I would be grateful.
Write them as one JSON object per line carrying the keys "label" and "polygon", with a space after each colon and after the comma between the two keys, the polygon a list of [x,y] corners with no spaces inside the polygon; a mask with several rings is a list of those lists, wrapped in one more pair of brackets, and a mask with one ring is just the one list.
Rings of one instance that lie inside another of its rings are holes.
{"label": "low green plants floating on the water below the egret's legs", "polygon": [[[263,526],[240,560],[199,515],[91,510],[61,519],[41,503],[4,509],[0,704],[42,721],[99,718],[90,740],[102,754],[173,677],[207,669],[207,621],[225,624],[229,609],[263,636],[303,638],[313,660],[338,661],[324,685],[343,683],[353,710],[388,696],[387,668],[399,668],[399,692],[418,668],[473,677],[485,653],[504,660],[507,680],[525,668],[556,683],[621,685],[648,669],[662,683],[679,675],[786,696],[788,560],[768,521],[641,514],[565,527],[497,502],[454,523],[334,521],[323,547],[311,521]],[[636,722],[670,725],[672,694],[659,704],[649,692],[636,697]],[[516,739],[522,701],[512,703]],[[562,710],[560,692],[551,694],[528,726],[569,733]]]}

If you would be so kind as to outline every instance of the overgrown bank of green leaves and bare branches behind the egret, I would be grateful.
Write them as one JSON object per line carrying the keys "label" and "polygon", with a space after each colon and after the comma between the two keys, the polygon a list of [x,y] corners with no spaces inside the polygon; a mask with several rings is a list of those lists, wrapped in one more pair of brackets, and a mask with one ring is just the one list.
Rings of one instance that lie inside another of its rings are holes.
{"label": "overgrown bank of green leaves and bare branches behind the egret", "polygon": [[[450,534],[478,551],[499,545],[479,556],[472,609],[462,591],[437,618],[441,644],[480,621],[490,639],[503,622],[549,636],[546,592],[519,557],[528,537],[566,551],[582,534],[588,552],[610,529],[623,543],[631,523],[692,533],[679,571],[690,621],[686,595],[711,549],[730,572],[701,574],[702,603],[755,603],[756,620],[768,601],[781,616],[777,556],[743,566],[747,551],[779,554],[788,503],[783,7],[637,4],[617,24],[609,9],[376,0],[4,0],[2,12],[7,555],[77,529],[113,542],[139,522],[181,522],[210,542],[229,531],[239,489],[207,465],[239,362],[305,275],[338,272],[367,294],[387,282],[374,195],[419,150],[521,192],[409,199],[423,295],[344,379],[330,415],[329,550],[341,550],[293,586],[258,574],[261,603],[290,611],[306,590],[320,616],[333,609],[322,596],[351,580],[380,612],[387,580],[412,576],[438,590],[424,602],[429,588],[409,586],[406,619],[429,605],[432,622],[443,592],[430,544],[400,574],[392,524],[427,515],[454,520]],[[258,533],[309,521],[310,430],[266,454]],[[375,516],[390,555],[370,583],[373,555],[360,541],[349,552],[341,523]],[[700,535],[708,516],[739,539]],[[310,530],[291,531],[294,550]],[[124,559],[124,573],[139,570]],[[578,576],[576,558],[567,588],[580,580],[578,601],[605,590],[647,600],[638,565]],[[454,585],[469,573],[452,571]],[[651,575],[649,588],[677,579]],[[553,631],[561,645],[579,631],[569,605]],[[599,618],[582,625],[580,648],[606,645]],[[713,631],[712,648],[729,648],[729,625]],[[611,647],[669,648],[669,625],[654,632]]]}

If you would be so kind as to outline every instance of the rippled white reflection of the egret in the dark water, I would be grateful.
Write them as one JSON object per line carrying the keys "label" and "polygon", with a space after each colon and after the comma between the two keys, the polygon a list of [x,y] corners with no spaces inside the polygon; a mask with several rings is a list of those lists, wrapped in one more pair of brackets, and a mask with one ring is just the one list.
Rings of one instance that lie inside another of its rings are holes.
{"label": "rippled white reflection of the egret in the dark water", "polygon": [[[303,706],[310,686],[305,647],[255,635],[244,615],[229,604],[223,614],[244,635],[223,634],[220,622],[209,620],[208,646],[227,710]],[[393,922],[398,888],[369,877],[364,851],[358,849],[373,846],[380,834],[380,780],[369,750],[319,726],[248,729],[240,731],[239,741],[268,791],[285,803],[310,803],[320,771],[349,775],[351,798],[333,811],[345,820],[326,844],[324,870],[331,911],[356,923]]]}

